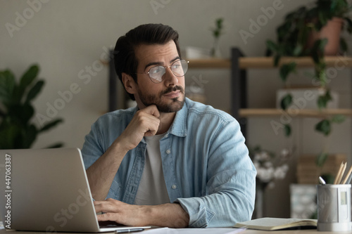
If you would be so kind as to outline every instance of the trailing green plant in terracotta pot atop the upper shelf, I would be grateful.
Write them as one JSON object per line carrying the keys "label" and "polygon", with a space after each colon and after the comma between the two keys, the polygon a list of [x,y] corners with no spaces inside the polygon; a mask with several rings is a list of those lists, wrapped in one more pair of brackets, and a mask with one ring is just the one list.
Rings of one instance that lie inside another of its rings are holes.
{"label": "trailing green plant in terracotta pot atop the upper shelf", "polygon": [[[347,51],[347,44],[340,31],[352,32],[352,20],[348,16],[351,5],[346,0],[318,0],[314,6],[302,6],[286,15],[282,25],[277,28],[277,41],[268,40],[267,55],[274,56],[274,65],[279,66],[279,76],[287,86],[290,74],[296,72],[296,63],[280,63],[283,56],[310,56],[314,63],[314,74],[310,75],[313,83],[323,90],[318,97],[319,110],[327,108],[332,95],[327,87],[327,65],[325,56],[336,56],[341,51]],[[280,107],[287,110],[293,102],[291,93],[287,93],[280,101]],[[332,123],[341,123],[344,117],[324,117],[315,125],[315,130],[328,136]],[[291,134],[291,126],[285,124],[285,134]],[[322,165],[327,158],[324,150],[317,159]]]}

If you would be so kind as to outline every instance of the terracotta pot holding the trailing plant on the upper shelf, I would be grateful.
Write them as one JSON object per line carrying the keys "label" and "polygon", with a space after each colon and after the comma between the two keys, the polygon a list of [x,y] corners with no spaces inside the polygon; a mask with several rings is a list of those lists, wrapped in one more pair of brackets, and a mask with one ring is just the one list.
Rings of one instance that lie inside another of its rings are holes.
{"label": "terracotta pot holding the trailing plant on the upper shelf", "polygon": [[337,53],[339,52],[340,32],[343,22],[344,20],[341,18],[332,18],[332,20],[327,22],[325,27],[322,27],[320,32],[311,32],[308,37],[307,47],[312,47],[317,39],[327,38],[327,44],[324,51],[325,56],[337,56]]}

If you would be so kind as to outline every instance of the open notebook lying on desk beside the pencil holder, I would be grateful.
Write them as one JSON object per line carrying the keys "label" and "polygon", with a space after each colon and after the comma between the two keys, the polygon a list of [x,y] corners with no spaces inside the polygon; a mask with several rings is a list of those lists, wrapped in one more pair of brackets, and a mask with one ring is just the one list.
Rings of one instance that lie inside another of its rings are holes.
{"label": "open notebook lying on desk beside the pencil holder", "polygon": [[258,230],[278,230],[303,226],[317,226],[316,219],[282,219],[282,218],[261,218],[237,223],[236,228],[250,228]]}

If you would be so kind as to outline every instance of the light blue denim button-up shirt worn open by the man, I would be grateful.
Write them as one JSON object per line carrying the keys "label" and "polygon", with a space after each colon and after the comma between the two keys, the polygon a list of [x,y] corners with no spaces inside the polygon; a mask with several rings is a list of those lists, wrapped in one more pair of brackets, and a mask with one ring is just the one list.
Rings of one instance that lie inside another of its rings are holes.
{"label": "light blue denim button-up shirt worn open by the man", "polygon": [[[137,108],[116,110],[92,125],[82,148],[86,169],[120,136],[135,112]],[[256,169],[231,115],[186,98],[161,138],[160,150],[170,201],[189,214],[189,227],[227,227],[251,219]],[[108,197],[134,204],[145,154],[143,139],[125,155]]]}

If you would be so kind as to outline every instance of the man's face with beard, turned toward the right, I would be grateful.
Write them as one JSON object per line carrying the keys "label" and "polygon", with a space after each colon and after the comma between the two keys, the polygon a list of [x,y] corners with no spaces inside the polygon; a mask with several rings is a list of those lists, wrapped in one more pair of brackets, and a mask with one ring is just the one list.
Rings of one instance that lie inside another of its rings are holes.
{"label": "man's face with beard, turned toward the right", "polygon": [[[151,67],[168,67],[180,60],[174,41],[164,45],[141,45],[136,48],[137,72],[149,72]],[[159,112],[177,112],[184,105],[184,76],[176,77],[166,68],[161,83],[153,83],[149,74],[137,74],[137,93],[134,93],[140,109],[156,105]]]}

